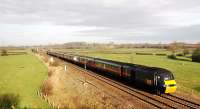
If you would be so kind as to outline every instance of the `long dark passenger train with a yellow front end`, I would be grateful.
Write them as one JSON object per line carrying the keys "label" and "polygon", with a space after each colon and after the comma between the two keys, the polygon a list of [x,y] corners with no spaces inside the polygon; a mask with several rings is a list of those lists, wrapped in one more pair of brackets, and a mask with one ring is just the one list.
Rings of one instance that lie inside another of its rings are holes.
{"label": "long dark passenger train with a yellow front end", "polygon": [[97,72],[104,72],[105,74],[128,81],[130,84],[149,87],[158,95],[174,93],[177,89],[174,75],[164,68],[118,62],[72,53],[47,51],[47,54],[88,69],[96,70]]}

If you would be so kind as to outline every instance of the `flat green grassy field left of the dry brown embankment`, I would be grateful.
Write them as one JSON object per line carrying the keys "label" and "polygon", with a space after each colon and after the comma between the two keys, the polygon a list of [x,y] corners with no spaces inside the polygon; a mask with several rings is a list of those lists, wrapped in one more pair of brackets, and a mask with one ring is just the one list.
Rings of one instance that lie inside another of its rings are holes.
{"label": "flat green grassy field left of the dry brown embankment", "polygon": [[37,95],[46,75],[47,68],[31,54],[0,56],[0,94],[18,94],[22,108],[49,108]]}

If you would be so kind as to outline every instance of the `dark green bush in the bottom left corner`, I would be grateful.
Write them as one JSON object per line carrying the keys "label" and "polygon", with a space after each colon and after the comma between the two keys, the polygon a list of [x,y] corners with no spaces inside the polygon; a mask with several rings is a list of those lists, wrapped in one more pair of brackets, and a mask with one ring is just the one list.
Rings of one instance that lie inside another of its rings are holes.
{"label": "dark green bush in the bottom left corner", "polygon": [[0,95],[0,109],[13,109],[18,108],[19,96],[14,94]]}

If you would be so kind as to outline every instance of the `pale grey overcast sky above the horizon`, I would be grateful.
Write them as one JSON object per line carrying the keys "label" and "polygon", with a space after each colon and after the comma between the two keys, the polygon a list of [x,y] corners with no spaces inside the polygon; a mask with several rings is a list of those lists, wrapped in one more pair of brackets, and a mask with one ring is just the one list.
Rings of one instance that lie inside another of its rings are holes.
{"label": "pale grey overcast sky above the horizon", "polygon": [[200,0],[0,0],[0,46],[200,42]]}

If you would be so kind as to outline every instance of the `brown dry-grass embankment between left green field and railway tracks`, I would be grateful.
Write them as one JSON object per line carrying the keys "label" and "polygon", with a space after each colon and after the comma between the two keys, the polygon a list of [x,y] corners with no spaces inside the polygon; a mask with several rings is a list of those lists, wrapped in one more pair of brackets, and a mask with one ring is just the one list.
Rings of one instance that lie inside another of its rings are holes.
{"label": "brown dry-grass embankment between left green field and railway tracks", "polygon": [[56,107],[62,109],[123,108],[118,101],[113,101],[113,98],[102,90],[75,79],[76,76],[72,75],[73,71],[70,68],[65,72],[59,65],[62,65],[62,62],[55,58],[53,63],[47,64],[48,79],[41,88],[42,94]]}

